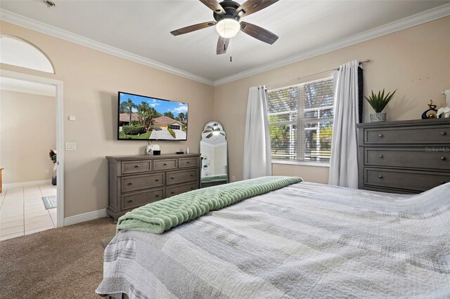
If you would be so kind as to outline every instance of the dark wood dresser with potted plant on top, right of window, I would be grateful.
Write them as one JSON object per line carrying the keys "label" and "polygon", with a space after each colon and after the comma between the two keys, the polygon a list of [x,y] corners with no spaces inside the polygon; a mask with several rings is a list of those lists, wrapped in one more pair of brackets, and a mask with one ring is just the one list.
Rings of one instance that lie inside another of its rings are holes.
{"label": "dark wood dresser with potted plant on top, right of window", "polygon": [[359,189],[413,194],[450,182],[450,119],[356,127]]}

